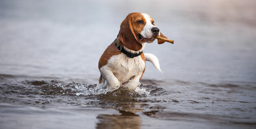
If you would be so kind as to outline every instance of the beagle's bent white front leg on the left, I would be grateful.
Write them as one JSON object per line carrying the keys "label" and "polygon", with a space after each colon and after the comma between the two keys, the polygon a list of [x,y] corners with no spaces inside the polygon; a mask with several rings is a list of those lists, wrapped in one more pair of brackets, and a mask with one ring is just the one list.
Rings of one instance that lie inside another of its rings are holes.
{"label": "beagle's bent white front leg on the left", "polygon": [[104,66],[104,67],[100,68],[100,73],[101,73],[102,77],[105,80],[107,80],[107,82],[108,82],[107,88],[108,89],[114,89],[120,85],[119,80],[117,79],[117,77],[115,77],[113,72],[108,69],[108,67]]}

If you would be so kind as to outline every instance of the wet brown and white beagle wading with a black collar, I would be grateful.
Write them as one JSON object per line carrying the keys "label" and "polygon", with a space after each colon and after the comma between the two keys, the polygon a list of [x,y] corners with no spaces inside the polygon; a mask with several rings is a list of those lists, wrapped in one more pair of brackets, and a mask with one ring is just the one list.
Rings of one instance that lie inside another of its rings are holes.
{"label": "wet brown and white beagle wading with a black collar", "polygon": [[[143,53],[145,43],[152,43],[156,36],[163,36],[154,20],[146,13],[130,13],[122,21],[119,34],[115,41],[108,46],[100,57],[99,84],[107,83],[107,89],[119,86],[127,87],[130,91],[140,84],[146,68],[146,60],[161,72],[158,58]],[[158,44],[163,44],[158,40]]]}

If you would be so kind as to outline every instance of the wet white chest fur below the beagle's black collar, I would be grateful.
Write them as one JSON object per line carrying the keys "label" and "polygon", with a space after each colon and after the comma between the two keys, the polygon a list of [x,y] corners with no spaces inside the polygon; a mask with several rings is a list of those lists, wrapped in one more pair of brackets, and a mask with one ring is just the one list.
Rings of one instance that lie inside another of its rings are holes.
{"label": "wet white chest fur below the beagle's black collar", "polygon": [[112,56],[108,64],[104,66],[113,72],[115,77],[122,84],[136,75],[141,75],[145,68],[145,62],[141,56],[129,58],[123,53]]}

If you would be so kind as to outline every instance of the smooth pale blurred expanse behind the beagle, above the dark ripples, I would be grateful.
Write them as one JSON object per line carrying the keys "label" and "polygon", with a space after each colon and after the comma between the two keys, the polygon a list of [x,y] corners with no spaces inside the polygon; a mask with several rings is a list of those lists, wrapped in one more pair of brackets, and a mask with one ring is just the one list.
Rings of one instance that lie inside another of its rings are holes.
{"label": "smooth pale blurred expanse behind the beagle, above the dark ripples", "polygon": [[142,79],[255,82],[255,0],[1,0],[0,73],[82,79],[95,84],[98,60],[132,12],[154,18],[174,44],[147,44]]}

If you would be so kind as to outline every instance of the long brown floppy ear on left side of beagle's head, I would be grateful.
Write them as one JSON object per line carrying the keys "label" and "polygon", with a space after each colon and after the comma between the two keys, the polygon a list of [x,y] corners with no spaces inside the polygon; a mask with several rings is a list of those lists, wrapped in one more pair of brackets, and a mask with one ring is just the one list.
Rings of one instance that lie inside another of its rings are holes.
{"label": "long brown floppy ear on left side of beagle's head", "polygon": [[132,13],[122,21],[119,31],[119,40],[130,50],[139,51],[142,44],[138,41],[132,28]]}

